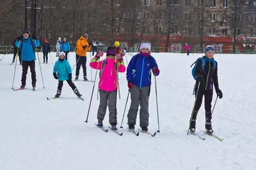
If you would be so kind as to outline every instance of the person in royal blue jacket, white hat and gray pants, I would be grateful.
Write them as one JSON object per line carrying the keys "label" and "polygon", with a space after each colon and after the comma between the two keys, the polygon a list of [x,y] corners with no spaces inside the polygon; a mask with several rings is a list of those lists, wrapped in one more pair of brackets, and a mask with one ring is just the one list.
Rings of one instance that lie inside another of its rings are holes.
{"label": "person in royal blue jacket, white hat and gray pants", "polygon": [[151,85],[151,70],[154,76],[159,75],[159,69],[154,57],[150,55],[151,44],[143,41],[140,45],[140,53],[134,55],[127,66],[128,88],[131,91],[131,106],[129,109],[129,129],[134,129],[138,107],[140,104],[140,127],[142,131],[148,131],[148,99]]}

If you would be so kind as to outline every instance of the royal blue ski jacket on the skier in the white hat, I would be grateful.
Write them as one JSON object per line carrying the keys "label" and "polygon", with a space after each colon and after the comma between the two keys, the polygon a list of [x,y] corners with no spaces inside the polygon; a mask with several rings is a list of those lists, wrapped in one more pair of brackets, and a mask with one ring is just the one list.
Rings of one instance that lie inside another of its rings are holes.
{"label": "royal blue ski jacket on the skier in the white hat", "polygon": [[[134,55],[127,66],[126,79],[128,82],[132,82],[138,87],[148,86],[151,84],[151,69],[153,67],[157,67],[158,69],[156,60],[154,59],[154,57],[151,57],[150,62],[149,55],[143,56],[139,54],[135,64],[136,67],[134,67],[134,60],[136,59],[136,57],[137,55]],[[156,76],[158,76],[159,73],[160,71],[157,72]]]}

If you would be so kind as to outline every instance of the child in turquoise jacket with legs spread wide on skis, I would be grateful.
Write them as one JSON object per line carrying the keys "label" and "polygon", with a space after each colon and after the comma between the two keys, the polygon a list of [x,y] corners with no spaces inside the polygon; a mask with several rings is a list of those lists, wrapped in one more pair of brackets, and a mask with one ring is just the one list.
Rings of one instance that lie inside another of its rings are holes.
{"label": "child in turquoise jacket with legs spread wide on skis", "polygon": [[59,80],[57,94],[55,97],[60,97],[61,89],[63,87],[63,81],[67,81],[68,85],[72,88],[76,96],[81,97],[82,95],[76,88],[72,81],[72,69],[67,60],[65,60],[65,53],[60,52],[59,59],[55,62],[53,67],[53,76],[56,80]]}

